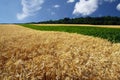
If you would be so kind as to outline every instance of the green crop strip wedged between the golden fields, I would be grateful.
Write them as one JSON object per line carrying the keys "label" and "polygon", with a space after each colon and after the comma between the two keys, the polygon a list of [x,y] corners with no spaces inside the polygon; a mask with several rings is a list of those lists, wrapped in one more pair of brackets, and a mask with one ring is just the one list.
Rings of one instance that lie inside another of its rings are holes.
{"label": "green crop strip wedged between the golden fields", "polygon": [[116,28],[99,28],[90,26],[37,26],[32,24],[20,25],[36,30],[78,33],[108,39],[114,43],[120,42],[120,29]]}

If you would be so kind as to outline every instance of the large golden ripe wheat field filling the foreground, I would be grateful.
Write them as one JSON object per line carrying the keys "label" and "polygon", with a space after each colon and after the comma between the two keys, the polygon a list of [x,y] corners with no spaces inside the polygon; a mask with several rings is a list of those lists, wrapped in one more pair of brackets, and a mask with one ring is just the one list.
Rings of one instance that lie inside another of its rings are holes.
{"label": "large golden ripe wheat field filling the foreground", "polygon": [[120,80],[120,43],[0,25],[0,80]]}

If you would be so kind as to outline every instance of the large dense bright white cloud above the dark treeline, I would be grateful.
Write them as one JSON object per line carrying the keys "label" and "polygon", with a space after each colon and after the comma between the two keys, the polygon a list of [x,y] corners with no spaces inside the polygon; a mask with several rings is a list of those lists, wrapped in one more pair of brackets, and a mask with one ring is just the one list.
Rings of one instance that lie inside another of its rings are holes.
{"label": "large dense bright white cloud above the dark treeline", "polygon": [[79,2],[75,4],[73,14],[87,16],[95,12],[98,6],[99,0],[79,0]]}

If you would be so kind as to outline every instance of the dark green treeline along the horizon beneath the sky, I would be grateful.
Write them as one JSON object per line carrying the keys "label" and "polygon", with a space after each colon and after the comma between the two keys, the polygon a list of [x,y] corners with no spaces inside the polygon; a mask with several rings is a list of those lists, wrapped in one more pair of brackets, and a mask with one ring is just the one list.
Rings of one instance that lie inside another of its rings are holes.
{"label": "dark green treeline along the horizon beneath the sky", "polygon": [[59,20],[49,20],[36,22],[36,24],[94,24],[94,25],[120,25],[120,17],[80,17],[80,18],[64,18]]}

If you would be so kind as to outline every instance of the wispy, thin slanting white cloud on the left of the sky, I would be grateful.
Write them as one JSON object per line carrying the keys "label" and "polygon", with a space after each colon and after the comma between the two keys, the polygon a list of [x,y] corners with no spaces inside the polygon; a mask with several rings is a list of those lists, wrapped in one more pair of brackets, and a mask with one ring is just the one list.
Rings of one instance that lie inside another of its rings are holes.
{"label": "wispy, thin slanting white cloud on the left of the sky", "polygon": [[17,14],[18,20],[23,20],[29,16],[33,16],[42,7],[44,0],[21,0],[22,13]]}

